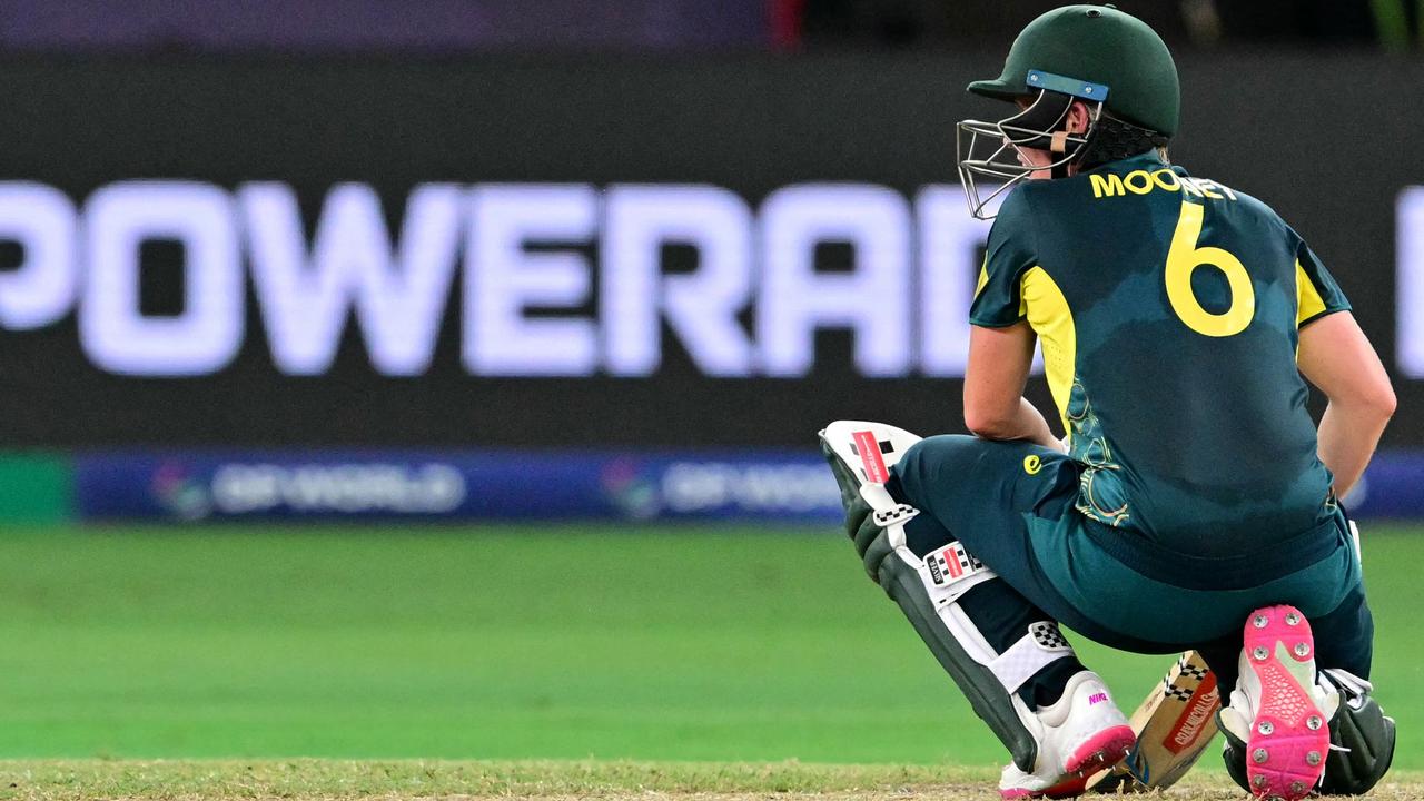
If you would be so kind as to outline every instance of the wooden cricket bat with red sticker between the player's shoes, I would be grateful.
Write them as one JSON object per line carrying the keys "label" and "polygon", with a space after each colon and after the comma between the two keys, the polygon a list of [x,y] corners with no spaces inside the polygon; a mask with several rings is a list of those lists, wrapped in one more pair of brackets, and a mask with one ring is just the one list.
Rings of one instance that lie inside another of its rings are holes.
{"label": "wooden cricket bat with red sticker between the player's shoes", "polygon": [[1132,713],[1136,745],[1121,763],[1092,775],[1095,792],[1146,792],[1172,787],[1216,735],[1216,674],[1196,651],[1182,654]]}

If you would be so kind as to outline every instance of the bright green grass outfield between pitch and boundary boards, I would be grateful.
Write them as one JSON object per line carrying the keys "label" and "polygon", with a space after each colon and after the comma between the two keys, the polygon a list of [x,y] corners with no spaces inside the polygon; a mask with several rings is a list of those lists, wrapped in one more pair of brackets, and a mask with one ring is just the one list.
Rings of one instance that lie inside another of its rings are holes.
{"label": "bright green grass outfield between pitch and boundary boards", "polygon": [[[1420,770],[1424,530],[1366,536],[1378,697]],[[1002,761],[826,532],[7,532],[0,609],[9,758]],[[1168,664],[1081,650],[1124,706]]]}

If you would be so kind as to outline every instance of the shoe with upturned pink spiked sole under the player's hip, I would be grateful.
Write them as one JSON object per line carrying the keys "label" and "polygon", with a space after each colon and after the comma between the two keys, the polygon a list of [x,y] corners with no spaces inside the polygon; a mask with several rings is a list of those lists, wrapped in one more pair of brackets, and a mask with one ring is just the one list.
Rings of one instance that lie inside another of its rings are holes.
{"label": "shoe with upturned pink spiked sole under the player's hip", "polygon": [[1240,678],[1222,723],[1246,743],[1246,780],[1257,798],[1309,795],[1330,755],[1337,693],[1319,684],[1310,621],[1293,606],[1246,619]]}

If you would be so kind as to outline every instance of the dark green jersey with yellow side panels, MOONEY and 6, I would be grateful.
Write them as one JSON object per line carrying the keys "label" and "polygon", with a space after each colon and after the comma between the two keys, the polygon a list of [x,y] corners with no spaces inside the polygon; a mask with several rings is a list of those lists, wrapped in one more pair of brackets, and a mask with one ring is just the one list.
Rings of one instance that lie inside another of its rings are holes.
{"label": "dark green jersey with yellow side panels, MOONEY and 6", "polygon": [[1015,188],[970,319],[1038,334],[1084,515],[1215,556],[1333,512],[1296,346],[1341,309],[1269,207],[1145,154]]}

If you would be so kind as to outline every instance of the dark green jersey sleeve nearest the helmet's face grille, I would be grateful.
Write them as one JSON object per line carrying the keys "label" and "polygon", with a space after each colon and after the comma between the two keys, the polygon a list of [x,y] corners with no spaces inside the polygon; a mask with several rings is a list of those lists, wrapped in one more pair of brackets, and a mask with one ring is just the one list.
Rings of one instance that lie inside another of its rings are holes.
{"label": "dark green jersey sleeve nearest the helmet's face grille", "polygon": [[1032,218],[1022,188],[1010,192],[988,232],[988,251],[980,268],[970,306],[970,324],[984,328],[1004,328],[1024,319],[1020,282],[1025,271],[1037,264],[1034,252]]}

